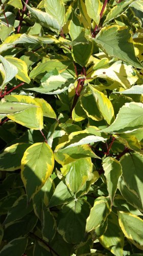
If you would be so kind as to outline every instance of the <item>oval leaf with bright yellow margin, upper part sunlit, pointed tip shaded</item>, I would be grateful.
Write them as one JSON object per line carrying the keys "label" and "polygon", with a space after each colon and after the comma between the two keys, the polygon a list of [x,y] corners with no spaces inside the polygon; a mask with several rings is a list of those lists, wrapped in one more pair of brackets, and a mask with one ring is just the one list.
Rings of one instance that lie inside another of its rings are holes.
{"label": "oval leaf with bright yellow margin, upper part sunlit, pointed tip shaded", "polygon": [[47,143],[39,142],[27,148],[21,160],[21,179],[28,201],[43,187],[53,166],[53,152]]}

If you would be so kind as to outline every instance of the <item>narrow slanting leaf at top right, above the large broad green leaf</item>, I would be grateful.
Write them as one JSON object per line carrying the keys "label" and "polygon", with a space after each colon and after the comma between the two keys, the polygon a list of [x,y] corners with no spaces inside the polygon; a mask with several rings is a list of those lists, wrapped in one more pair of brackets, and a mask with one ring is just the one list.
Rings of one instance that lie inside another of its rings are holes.
{"label": "narrow slanting leaf at top right, above the large broad green leaf", "polygon": [[126,0],[118,3],[116,6],[113,6],[113,8],[111,8],[111,10],[107,13],[104,25],[110,22],[110,20],[115,19],[123,14],[129,8],[129,5],[133,2],[134,0]]}

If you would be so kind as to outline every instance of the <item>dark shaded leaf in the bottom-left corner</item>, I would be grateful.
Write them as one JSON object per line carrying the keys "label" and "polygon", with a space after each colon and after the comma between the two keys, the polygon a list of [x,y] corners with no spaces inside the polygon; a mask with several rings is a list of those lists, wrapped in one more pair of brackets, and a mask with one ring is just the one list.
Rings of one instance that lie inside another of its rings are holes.
{"label": "dark shaded leaf in the bottom-left corner", "polygon": [[0,252],[1,256],[7,255],[22,255],[27,246],[28,239],[27,238],[17,238],[10,241],[7,245],[5,245]]}

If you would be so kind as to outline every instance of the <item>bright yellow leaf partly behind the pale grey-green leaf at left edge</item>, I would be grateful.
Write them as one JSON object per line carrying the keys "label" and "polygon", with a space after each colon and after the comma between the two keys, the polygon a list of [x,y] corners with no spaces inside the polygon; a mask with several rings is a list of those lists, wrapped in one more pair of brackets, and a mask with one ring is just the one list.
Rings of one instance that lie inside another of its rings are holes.
{"label": "bright yellow leaf partly behind the pale grey-green leaf at left edge", "polygon": [[31,82],[31,79],[28,77],[27,74],[27,65],[23,60],[15,57],[6,57],[6,59],[18,69],[16,78],[26,83]]}

